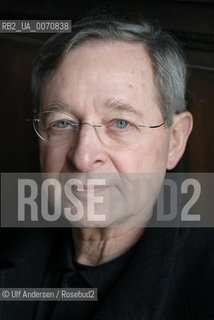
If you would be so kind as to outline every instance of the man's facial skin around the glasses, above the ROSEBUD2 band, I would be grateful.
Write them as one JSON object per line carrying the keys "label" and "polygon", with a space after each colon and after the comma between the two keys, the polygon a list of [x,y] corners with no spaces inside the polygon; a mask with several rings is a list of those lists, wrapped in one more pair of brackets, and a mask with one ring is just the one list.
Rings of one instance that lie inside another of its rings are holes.
{"label": "man's facial skin around the glasses, above the ROSEBUD2 band", "polygon": [[[116,107],[108,108],[107,101],[114,101]],[[136,114],[118,111],[120,104],[132,106]],[[62,108],[90,124],[102,124],[106,115],[113,119],[131,117],[146,125],[163,122],[149,56],[140,44],[123,41],[91,42],[71,50],[46,81],[42,106],[43,110]],[[167,168],[170,130],[161,126],[141,131],[137,143],[123,148],[104,144],[89,125],[81,127],[75,145],[41,141],[41,170],[57,172],[59,176],[65,172],[115,176],[158,173],[162,179]]]}

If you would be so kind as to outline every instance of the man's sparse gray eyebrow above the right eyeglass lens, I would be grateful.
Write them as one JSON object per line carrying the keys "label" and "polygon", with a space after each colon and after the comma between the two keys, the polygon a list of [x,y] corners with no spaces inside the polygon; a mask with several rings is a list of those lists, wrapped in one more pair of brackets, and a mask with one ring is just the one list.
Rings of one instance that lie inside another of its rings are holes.
{"label": "man's sparse gray eyebrow above the right eyeglass lens", "polygon": [[115,98],[109,98],[105,103],[104,106],[108,110],[113,111],[125,111],[126,113],[129,113],[131,115],[142,117],[143,113],[136,110],[134,107],[132,107],[129,103],[127,103],[125,100],[122,99],[115,99]]}

